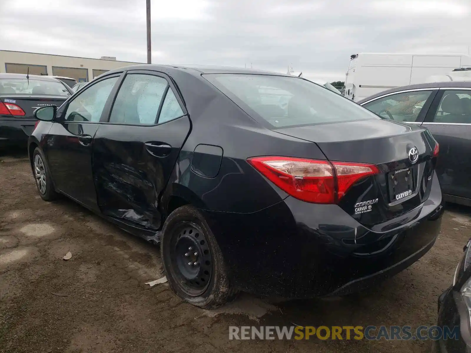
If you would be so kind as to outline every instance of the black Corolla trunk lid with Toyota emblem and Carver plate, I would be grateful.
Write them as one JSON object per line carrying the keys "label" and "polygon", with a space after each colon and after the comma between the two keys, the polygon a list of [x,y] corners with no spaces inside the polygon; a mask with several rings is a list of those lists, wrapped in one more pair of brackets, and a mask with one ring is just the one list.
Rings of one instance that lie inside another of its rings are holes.
{"label": "black Corolla trunk lid with Toyota emblem and Carver plate", "polygon": [[[328,160],[378,166],[379,174],[358,180],[339,201],[339,206],[363,225],[398,217],[429,196],[436,142],[425,128],[388,120],[360,120],[275,131],[316,143]],[[416,161],[409,158],[414,148]]]}

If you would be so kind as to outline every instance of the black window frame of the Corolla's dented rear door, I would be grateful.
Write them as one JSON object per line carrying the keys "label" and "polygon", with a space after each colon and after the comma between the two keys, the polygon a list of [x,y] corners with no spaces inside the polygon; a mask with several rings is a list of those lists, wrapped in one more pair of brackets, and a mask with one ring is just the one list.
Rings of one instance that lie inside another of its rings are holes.
{"label": "black window frame of the Corolla's dented rear door", "polygon": [[[157,114],[155,116],[156,123],[154,123],[154,124],[126,124],[126,123],[110,121],[111,112],[113,110],[114,102],[116,101],[116,97],[118,96],[118,93],[119,93],[119,90],[121,89],[122,83],[126,79],[127,75],[132,75],[132,74],[157,76],[157,77],[160,77],[160,78],[167,81],[167,87],[165,88],[164,94],[162,95],[162,99],[160,100],[159,109],[157,110]],[[171,77],[169,75],[167,75],[166,73],[164,73],[164,72],[152,71],[152,70],[126,70],[126,71],[122,72],[122,78],[115,87],[116,87],[116,92],[114,92],[113,101],[110,102],[110,106],[109,106],[109,110],[107,112],[107,116],[106,117],[104,117],[103,115],[101,116],[100,123],[102,123],[102,124],[151,127],[151,126],[162,125],[162,124],[165,124],[167,122],[170,122],[170,121],[173,121],[173,120],[176,120],[176,119],[180,119],[180,118],[188,115],[187,108],[186,108],[185,104],[183,104],[183,99],[180,96],[180,90],[178,89],[177,85],[173,82]],[[176,117],[176,118],[173,118],[171,120],[167,120],[167,121],[159,123],[158,120],[160,119],[160,113],[162,111],[162,105],[163,105],[163,102],[165,100],[165,97],[167,96],[167,92],[168,92],[169,89],[172,90],[173,95],[177,98],[177,102],[179,103],[180,109],[182,110],[183,114]],[[106,102],[106,103],[108,104],[108,102]],[[105,107],[106,107],[106,104],[105,104]]]}

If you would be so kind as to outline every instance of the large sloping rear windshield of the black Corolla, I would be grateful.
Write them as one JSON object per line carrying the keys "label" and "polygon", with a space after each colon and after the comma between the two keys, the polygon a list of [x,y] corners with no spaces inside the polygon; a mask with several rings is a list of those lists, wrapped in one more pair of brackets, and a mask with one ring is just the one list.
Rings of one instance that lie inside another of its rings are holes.
{"label": "large sloping rear windshield of the black Corolla", "polygon": [[349,99],[298,77],[252,74],[203,76],[252,118],[259,121],[260,116],[271,128],[381,119]]}

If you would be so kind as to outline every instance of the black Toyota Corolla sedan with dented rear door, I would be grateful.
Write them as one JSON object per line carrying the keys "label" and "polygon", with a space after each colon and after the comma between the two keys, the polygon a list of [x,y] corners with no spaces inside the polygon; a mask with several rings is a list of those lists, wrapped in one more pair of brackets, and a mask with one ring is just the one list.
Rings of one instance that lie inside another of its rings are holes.
{"label": "black Toyota Corolla sedan with dented rear door", "polygon": [[439,145],[279,73],[106,72],[29,139],[38,191],[160,242],[171,288],[216,307],[242,290],[304,298],[374,285],[439,233]]}

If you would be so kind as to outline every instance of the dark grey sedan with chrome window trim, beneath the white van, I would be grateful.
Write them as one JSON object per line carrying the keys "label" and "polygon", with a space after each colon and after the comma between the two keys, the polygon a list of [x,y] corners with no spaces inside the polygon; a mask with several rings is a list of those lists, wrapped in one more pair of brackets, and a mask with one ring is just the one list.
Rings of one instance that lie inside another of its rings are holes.
{"label": "dark grey sedan with chrome window trim, beneath the white van", "polygon": [[387,119],[427,127],[440,144],[437,175],[444,199],[471,206],[471,82],[397,87],[358,104]]}

